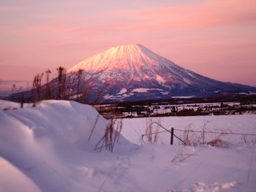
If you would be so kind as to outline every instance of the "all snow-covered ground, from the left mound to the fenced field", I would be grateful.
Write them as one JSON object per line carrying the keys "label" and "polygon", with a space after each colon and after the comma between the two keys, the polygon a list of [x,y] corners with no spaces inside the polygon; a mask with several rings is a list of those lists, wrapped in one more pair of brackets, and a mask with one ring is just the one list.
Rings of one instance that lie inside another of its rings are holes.
{"label": "all snow-covered ground, from the left mound to the fenced field", "polygon": [[[177,129],[256,134],[256,115],[124,119],[110,153],[94,150],[109,122],[93,107],[16,105],[0,101],[0,191],[255,191],[255,136],[222,135],[225,147],[200,145],[202,134],[192,131],[192,146],[170,145],[168,132],[157,143],[144,137],[141,145],[140,137],[154,121],[182,139]],[[205,134],[204,142],[218,136]]]}

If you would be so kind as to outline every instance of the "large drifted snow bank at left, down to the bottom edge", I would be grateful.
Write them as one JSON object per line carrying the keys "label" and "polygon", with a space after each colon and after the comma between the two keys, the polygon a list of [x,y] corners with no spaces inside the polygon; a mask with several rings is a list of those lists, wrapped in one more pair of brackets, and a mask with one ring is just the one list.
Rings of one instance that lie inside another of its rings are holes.
{"label": "large drifted snow bank at left, down to the bottom edge", "polygon": [[[1,103],[8,109],[16,105]],[[20,183],[28,186],[26,191],[39,191],[36,186],[42,191],[84,191],[69,177],[78,169],[91,171],[73,163],[89,159],[108,124],[93,107],[75,101],[42,101],[37,107],[0,110],[1,191],[16,191]],[[7,175],[2,174],[5,171]],[[20,182],[4,184],[12,174]]]}

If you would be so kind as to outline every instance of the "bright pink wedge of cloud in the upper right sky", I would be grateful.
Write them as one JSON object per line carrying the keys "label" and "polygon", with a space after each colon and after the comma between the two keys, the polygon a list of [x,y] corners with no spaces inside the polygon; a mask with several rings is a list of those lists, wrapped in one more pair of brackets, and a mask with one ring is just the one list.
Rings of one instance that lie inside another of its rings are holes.
{"label": "bright pink wedge of cloud in the upper right sky", "polygon": [[105,17],[129,18],[138,29],[199,28],[255,21],[256,1],[204,1],[202,4],[111,12]]}

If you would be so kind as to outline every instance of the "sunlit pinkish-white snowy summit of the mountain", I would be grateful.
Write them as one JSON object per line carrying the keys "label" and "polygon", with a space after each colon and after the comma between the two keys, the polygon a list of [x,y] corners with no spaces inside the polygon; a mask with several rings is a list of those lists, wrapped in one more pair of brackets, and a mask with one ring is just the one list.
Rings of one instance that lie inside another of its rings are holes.
{"label": "sunlit pinkish-white snowy summit of the mountain", "polygon": [[153,53],[140,44],[127,44],[112,47],[103,53],[94,55],[69,69],[76,72],[79,69],[86,71],[98,71],[102,69],[131,69],[135,66],[159,63],[166,60],[160,55]]}

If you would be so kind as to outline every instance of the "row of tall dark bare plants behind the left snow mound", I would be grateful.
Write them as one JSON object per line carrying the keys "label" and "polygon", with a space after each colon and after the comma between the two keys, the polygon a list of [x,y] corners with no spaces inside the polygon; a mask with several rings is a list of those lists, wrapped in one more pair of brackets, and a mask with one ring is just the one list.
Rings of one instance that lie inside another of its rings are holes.
{"label": "row of tall dark bare plants behind the left snow mound", "polygon": [[[80,103],[96,104],[105,89],[99,91],[94,99],[87,98],[89,94],[89,84],[95,74],[84,72],[79,69],[77,72],[67,73],[67,69],[63,66],[56,68],[57,76],[52,77],[52,72],[47,69],[45,72],[38,73],[34,76],[31,91],[12,93],[11,100],[20,100],[20,107],[23,102],[34,102],[34,106],[38,101],[57,99],[57,100],[75,100]],[[15,85],[13,85],[15,87]],[[18,91],[16,91],[18,92]]]}

